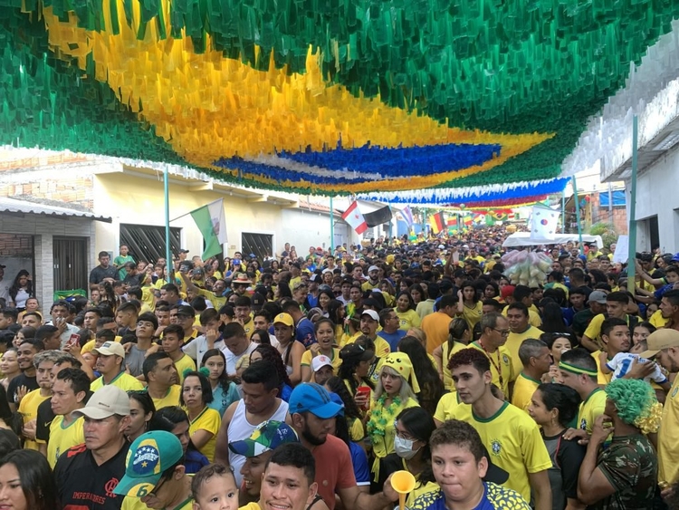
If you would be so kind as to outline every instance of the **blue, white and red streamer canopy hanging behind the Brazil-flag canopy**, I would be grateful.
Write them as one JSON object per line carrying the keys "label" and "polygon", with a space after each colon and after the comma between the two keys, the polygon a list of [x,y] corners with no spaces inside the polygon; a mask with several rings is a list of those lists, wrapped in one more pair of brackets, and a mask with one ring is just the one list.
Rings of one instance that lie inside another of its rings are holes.
{"label": "blue, white and red streamer canopy hanging behind the Brazil-flag canopy", "polygon": [[544,200],[552,193],[561,193],[569,178],[544,181],[493,184],[473,188],[434,188],[359,195],[359,198],[389,204],[439,205],[465,208],[519,207]]}

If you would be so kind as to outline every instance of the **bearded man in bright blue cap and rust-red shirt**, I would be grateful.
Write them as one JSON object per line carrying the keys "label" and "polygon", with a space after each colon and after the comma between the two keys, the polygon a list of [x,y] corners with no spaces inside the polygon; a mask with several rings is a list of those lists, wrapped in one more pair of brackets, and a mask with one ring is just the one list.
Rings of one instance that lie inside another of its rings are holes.
{"label": "bearded man in bright blue cap and rust-red shirt", "polygon": [[330,435],[330,429],[342,407],[330,399],[330,393],[313,382],[303,382],[290,396],[292,428],[302,446],[316,459],[316,483],[319,495],[330,510],[335,508],[335,494],[345,508],[369,510],[392,506],[398,495],[390,476],[382,492],[368,495],[359,490],[351,464],[349,447]]}

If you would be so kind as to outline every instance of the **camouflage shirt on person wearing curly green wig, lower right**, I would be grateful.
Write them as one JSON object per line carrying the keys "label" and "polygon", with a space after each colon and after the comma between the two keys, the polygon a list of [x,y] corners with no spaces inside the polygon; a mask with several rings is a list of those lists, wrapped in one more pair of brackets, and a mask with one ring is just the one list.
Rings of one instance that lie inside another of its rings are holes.
{"label": "camouflage shirt on person wearing curly green wig, lower right", "polygon": [[658,461],[651,442],[642,434],[614,436],[598,457],[598,467],[616,492],[590,508],[646,510],[658,481]]}

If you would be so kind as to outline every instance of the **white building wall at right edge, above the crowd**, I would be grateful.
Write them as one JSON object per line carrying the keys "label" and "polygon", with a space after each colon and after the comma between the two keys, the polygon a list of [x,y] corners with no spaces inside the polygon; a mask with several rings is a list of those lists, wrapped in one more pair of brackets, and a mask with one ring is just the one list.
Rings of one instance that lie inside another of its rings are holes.
{"label": "white building wall at right edge, above the crowd", "polygon": [[[636,180],[637,251],[650,250],[647,220],[658,218],[660,247],[665,252],[679,252],[679,149],[667,152]],[[630,183],[626,182],[627,197]],[[627,206],[629,207],[629,206]],[[642,220],[642,221],[639,221]]]}

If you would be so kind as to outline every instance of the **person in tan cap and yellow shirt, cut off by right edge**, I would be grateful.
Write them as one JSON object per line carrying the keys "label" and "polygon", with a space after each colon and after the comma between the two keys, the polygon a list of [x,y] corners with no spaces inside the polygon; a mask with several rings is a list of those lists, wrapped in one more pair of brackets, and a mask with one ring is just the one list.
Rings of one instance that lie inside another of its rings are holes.
{"label": "person in tan cap and yellow shirt, cut off by right edge", "polygon": [[[655,360],[671,373],[679,372],[679,332],[657,330],[646,339],[648,351],[641,356]],[[679,482],[679,377],[674,378],[663,406],[663,419],[658,430],[658,482],[673,486]]]}

